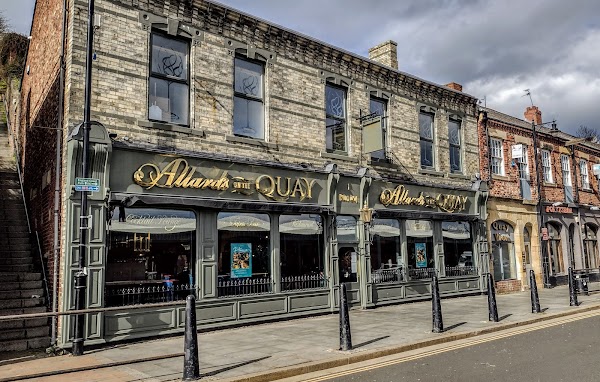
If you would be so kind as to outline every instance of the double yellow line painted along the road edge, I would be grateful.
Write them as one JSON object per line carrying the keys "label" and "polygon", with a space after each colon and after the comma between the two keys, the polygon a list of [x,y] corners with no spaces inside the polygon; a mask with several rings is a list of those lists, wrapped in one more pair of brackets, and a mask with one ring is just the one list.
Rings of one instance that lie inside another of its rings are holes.
{"label": "double yellow line painted along the road edge", "polygon": [[594,317],[594,316],[598,316],[598,315],[600,315],[600,311],[594,311],[594,312],[590,312],[590,313],[583,313],[580,315],[571,316],[569,318],[558,319],[556,321],[551,321],[551,322],[547,322],[544,324],[531,324],[533,326],[528,325],[529,327],[522,328],[522,329],[508,330],[508,331],[499,332],[498,334],[495,334],[495,335],[485,336],[484,338],[461,341],[460,343],[457,343],[457,344],[444,346],[444,348],[441,348],[441,349],[427,350],[427,351],[423,351],[423,352],[420,352],[417,354],[401,357],[398,359],[393,359],[390,361],[379,362],[379,363],[368,365],[368,366],[357,367],[352,370],[344,370],[344,371],[340,371],[337,373],[332,373],[332,374],[328,374],[328,375],[305,379],[305,380],[303,380],[303,382],[326,381],[329,379],[339,378],[339,377],[343,377],[346,375],[361,373],[361,372],[369,371],[369,370],[373,370],[373,369],[379,369],[382,367],[396,365],[396,364],[403,363],[403,362],[414,361],[416,359],[430,357],[430,356],[433,356],[436,354],[446,353],[446,352],[449,352],[452,350],[462,349],[462,348],[466,348],[469,346],[482,344],[485,342],[495,341],[495,340],[499,340],[499,339],[506,338],[506,337],[512,337],[512,336],[516,336],[516,335],[523,334],[523,333],[533,332],[535,330],[540,330],[540,329],[550,328],[553,326],[563,325],[563,324],[573,322],[573,321],[584,320],[586,318],[590,318],[590,317]]}

